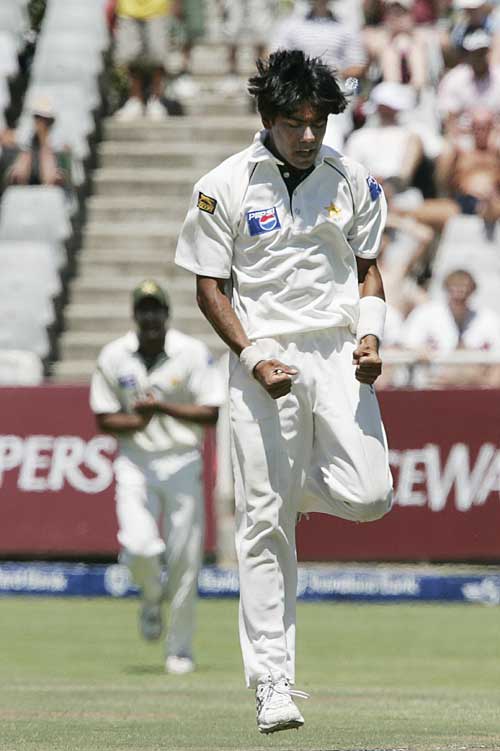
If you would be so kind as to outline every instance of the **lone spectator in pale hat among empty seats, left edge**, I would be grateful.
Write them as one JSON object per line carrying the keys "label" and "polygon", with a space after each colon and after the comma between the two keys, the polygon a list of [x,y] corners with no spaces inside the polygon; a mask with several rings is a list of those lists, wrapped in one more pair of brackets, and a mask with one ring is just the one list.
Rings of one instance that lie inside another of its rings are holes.
{"label": "lone spectator in pale hat among empty seats, left edge", "polygon": [[56,114],[48,97],[33,102],[33,131],[30,140],[17,144],[9,139],[6,148],[4,185],[59,185],[70,183],[69,150],[58,148],[52,137]]}

